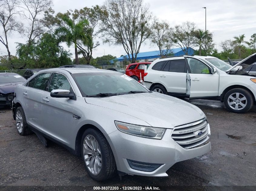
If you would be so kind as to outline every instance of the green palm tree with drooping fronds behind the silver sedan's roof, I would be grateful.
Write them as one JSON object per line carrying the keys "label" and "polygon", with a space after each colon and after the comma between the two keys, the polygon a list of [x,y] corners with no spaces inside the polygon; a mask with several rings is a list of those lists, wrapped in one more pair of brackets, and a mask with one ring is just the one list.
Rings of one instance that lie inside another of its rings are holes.
{"label": "green palm tree with drooping fronds behind the silver sedan's roof", "polygon": [[67,46],[70,47],[72,43],[75,45],[75,63],[79,64],[77,41],[86,38],[84,27],[88,24],[86,19],[75,23],[68,16],[62,16],[63,25],[60,25],[55,29],[55,34],[58,36],[59,42],[66,42]]}

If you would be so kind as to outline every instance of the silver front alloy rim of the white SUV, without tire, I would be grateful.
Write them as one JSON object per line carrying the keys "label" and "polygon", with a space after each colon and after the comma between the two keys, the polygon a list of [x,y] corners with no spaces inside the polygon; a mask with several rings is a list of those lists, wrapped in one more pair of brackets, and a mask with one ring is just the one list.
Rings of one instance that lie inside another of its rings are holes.
{"label": "silver front alloy rim of the white SUV, without tire", "polygon": [[247,99],[244,94],[233,93],[228,97],[228,105],[234,110],[242,110],[247,105]]}

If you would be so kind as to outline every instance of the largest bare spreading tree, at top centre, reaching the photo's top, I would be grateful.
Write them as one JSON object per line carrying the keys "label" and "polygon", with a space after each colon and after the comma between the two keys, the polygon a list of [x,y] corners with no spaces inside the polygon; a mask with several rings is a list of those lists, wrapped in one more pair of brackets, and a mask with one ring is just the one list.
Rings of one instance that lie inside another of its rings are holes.
{"label": "largest bare spreading tree, at top centre, reaching the photo's top", "polygon": [[103,10],[108,13],[100,30],[104,42],[122,45],[129,61],[135,62],[141,43],[150,35],[149,6],[143,0],[106,0]]}

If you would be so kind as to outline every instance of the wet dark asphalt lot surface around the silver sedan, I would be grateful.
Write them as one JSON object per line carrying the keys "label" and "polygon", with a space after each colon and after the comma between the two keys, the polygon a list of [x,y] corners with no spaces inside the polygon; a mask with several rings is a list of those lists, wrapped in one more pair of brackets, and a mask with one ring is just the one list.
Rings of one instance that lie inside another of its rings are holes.
{"label": "wet dark asphalt lot surface around the silver sedan", "polygon": [[[201,108],[211,126],[211,151],[172,166],[168,177],[118,176],[92,180],[81,158],[35,134],[18,135],[12,111],[0,110],[0,185],[32,186],[256,186],[256,107],[230,113],[212,100],[188,100]],[[153,154],[153,153],[152,153]],[[255,188],[255,187],[254,187]]]}

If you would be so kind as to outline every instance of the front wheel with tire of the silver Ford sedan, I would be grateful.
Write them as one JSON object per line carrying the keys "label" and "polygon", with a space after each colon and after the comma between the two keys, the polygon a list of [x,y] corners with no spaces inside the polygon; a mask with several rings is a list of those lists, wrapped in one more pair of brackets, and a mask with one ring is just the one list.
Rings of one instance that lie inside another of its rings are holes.
{"label": "front wheel with tire of the silver Ford sedan", "polygon": [[85,130],[81,139],[81,154],[85,168],[93,180],[107,180],[115,175],[114,155],[100,131]]}

